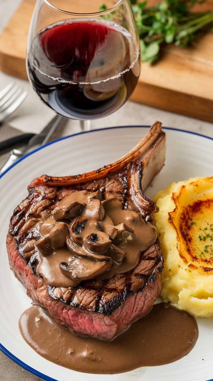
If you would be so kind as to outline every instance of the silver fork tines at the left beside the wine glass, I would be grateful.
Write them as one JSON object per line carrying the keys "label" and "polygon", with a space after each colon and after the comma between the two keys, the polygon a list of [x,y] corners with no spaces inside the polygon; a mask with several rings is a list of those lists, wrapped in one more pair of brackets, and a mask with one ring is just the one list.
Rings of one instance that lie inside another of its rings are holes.
{"label": "silver fork tines at the left beside the wine glass", "polygon": [[13,114],[27,94],[28,91],[17,86],[14,81],[0,91],[0,123]]}

